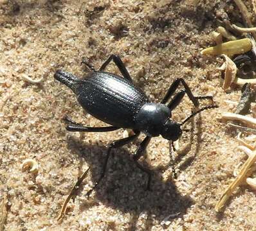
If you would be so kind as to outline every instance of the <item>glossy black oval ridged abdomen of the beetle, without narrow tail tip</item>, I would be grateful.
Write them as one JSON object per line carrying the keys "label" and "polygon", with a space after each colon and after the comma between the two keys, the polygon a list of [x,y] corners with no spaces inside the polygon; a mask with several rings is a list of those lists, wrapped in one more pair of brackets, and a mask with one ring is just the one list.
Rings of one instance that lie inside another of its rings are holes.
{"label": "glossy black oval ridged abdomen of the beetle, without narrow tail tip", "polygon": [[122,128],[133,128],[134,117],[148,101],[129,80],[105,72],[90,73],[80,81],[76,93],[89,114]]}

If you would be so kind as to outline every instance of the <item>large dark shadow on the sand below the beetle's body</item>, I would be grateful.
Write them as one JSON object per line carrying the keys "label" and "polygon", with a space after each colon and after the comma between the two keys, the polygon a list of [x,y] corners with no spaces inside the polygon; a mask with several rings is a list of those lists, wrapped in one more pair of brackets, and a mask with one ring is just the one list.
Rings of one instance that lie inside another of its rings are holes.
{"label": "large dark shadow on the sand below the beetle's body", "polygon": [[[149,228],[153,218],[160,221],[167,217],[169,221],[182,218],[188,207],[193,204],[192,198],[182,196],[170,180],[165,182],[159,169],[151,171],[151,191],[146,191],[147,175],[138,169],[126,147],[129,145],[113,150],[114,155],[109,158],[104,180],[93,191],[91,198],[80,205],[80,210],[89,209],[92,205],[90,200],[94,200],[92,197],[95,196],[96,201],[100,200],[108,207],[132,214],[129,230],[136,230],[136,220],[142,212],[147,216],[145,226]],[[88,145],[70,136],[68,149],[80,159],[81,169],[84,160],[87,162],[92,184],[95,184],[100,177],[107,148]],[[145,163],[143,165],[147,166]]]}

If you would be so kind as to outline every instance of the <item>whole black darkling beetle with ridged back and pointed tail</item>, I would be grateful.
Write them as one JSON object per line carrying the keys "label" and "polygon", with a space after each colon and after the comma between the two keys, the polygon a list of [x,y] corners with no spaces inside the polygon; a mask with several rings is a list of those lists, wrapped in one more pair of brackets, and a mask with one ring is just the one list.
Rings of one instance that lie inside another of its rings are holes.
{"label": "whole black darkling beetle with ridged back and pointed tail", "polygon": [[[116,64],[123,77],[104,71],[111,60]],[[164,139],[169,140],[171,149],[172,142],[181,137],[181,126],[184,123],[203,110],[217,107],[216,105],[203,107],[188,116],[182,123],[177,123],[170,119],[171,112],[179,105],[185,93],[187,93],[196,108],[199,107],[198,99],[212,99],[212,96],[194,96],[183,78],[177,78],[170,85],[161,103],[151,103],[142,90],[134,85],[130,74],[118,55],[109,56],[99,71],[96,71],[86,61],[83,61],[83,63],[91,69],[91,73],[85,78],[79,79],[73,74],[61,70],[56,71],[54,78],[75,92],[78,102],[86,112],[113,126],[87,127],[66,117],[66,123],[68,123],[66,129],[71,132],[110,132],[120,128],[131,128],[134,132],[134,135],[130,137],[119,139],[109,144],[102,174],[93,188],[87,192],[87,196],[104,177],[111,150],[134,141],[141,132],[145,133],[146,137],[140,143],[136,154],[133,155],[133,160],[142,171],[147,173],[147,189],[150,189],[151,173],[149,169],[138,162],[149,141],[151,141],[152,137],[161,135]],[[185,90],[179,91],[166,105],[178,88],[179,83],[183,85]]]}

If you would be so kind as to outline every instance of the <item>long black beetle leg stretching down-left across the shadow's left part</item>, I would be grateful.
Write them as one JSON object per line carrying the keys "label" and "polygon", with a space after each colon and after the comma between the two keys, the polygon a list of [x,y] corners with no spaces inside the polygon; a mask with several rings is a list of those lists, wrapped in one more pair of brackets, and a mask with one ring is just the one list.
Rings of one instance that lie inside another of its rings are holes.
{"label": "long black beetle leg stretching down-left across the shadow's left part", "polygon": [[111,153],[111,150],[113,148],[120,148],[125,144],[129,144],[129,142],[134,141],[134,139],[136,139],[138,137],[138,135],[140,135],[140,132],[135,133],[134,135],[132,135],[131,137],[127,137],[127,138],[123,138],[123,139],[119,139],[117,141],[112,142],[111,144],[109,144],[109,147],[107,148],[107,157],[104,160],[104,165],[103,165],[103,169],[102,169],[102,174],[100,175],[100,178],[98,179],[98,181],[95,183],[95,185],[93,185],[93,188],[90,189],[87,193],[86,196],[88,197],[91,192],[95,189],[95,187],[97,187],[97,185],[100,183],[100,181],[102,180],[102,178],[104,178],[105,176],[105,171],[107,169],[107,161],[109,160],[109,156]]}

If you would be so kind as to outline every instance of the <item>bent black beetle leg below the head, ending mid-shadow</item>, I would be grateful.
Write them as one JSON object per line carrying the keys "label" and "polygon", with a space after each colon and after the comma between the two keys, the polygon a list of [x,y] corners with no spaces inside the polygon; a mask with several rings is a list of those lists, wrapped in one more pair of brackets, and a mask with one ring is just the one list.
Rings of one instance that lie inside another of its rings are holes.
{"label": "bent black beetle leg below the head, ending mid-shadow", "polygon": [[139,169],[141,169],[143,172],[147,173],[148,180],[147,180],[147,190],[150,190],[151,187],[151,171],[142,164],[138,162],[138,159],[142,157],[143,153],[145,153],[145,150],[147,148],[147,145],[149,144],[149,141],[151,141],[151,137],[145,137],[143,141],[140,143],[140,146],[138,147],[138,150],[136,151],[136,154],[133,156],[133,160],[135,161],[136,165]]}

